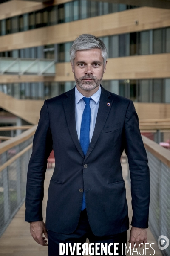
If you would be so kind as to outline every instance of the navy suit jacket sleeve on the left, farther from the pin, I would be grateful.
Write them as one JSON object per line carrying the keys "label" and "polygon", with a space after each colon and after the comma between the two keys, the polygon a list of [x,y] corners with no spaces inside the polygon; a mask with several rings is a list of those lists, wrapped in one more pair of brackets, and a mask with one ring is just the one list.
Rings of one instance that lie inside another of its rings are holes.
{"label": "navy suit jacket sleeve on the left, farther from the pin", "polygon": [[33,152],[28,165],[25,221],[42,221],[42,200],[47,159],[52,151],[52,137],[46,101],[33,140]]}

